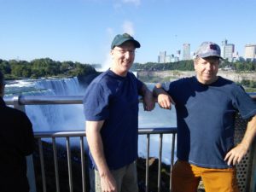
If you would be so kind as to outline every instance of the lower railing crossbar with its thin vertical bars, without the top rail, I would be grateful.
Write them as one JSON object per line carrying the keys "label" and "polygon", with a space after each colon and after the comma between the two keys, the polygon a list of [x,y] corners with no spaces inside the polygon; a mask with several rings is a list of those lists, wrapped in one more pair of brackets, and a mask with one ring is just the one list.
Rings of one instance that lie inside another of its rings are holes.
{"label": "lower railing crossbar with its thin vertical bars, without the top rail", "polygon": [[[171,151],[171,165],[173,165],[174,161],[174,148],[175,148],[175,136],[176,136],[176,128],[154,128],[154,129],[139,129],[140,135],[147,136],[147,156],[146,156],[146,180],[145,180],[145,188],[148,191],[148,176],[149,176],[149,146],[150,146],[150,135],[159,134],[160,142],[159,142],[159,156],[158,156],[158,184],[157,189],[160,192],[160,177],[161,177],[161,156],[162,156],[162,138],[163,134],[172,134],[172,148]],[[68,183],[69,183],[69,191],[73,191],[73,172],[72,172],[72,154],[71,154],[71,137],[79,137],[79,149],[80,149],[80,157],[81,157],[81,180],[82,180],[82,191],[85,192],[85,163],[84,163],[84,137],[86,137],[84,131],[45,131],[45,132],[35,132],[35,137],[38,139],[38,151],[40,158],[40,166],[41,166],[41,174],[42,174],[42,183],[43,183],[43,191],[47,191],[46,181],[47,177],[45,176],[45,164],[44,164],[44,150],[42,144],[42,138],[50,138],[52,143],[53,150],[53,162],[55,167],[55,189],[57,192],[60,192],[60,182],[59,182],[59,170],[58,170],[58,160],[57,160],[57,149],[56,149],[56,138],[65,138],[66,148],[67,148],[67,170],[68,170]],[[171,166],[172,168],[172,166]],[[170,170],[171,172],[171,170]]]}

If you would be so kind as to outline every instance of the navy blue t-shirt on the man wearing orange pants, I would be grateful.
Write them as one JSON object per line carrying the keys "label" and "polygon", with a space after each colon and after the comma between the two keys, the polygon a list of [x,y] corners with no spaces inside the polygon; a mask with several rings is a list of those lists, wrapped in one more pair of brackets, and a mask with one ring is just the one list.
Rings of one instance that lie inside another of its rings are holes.
{"label": "navy blue t-shirt on the man wearing orange pants", "polygon": [[195,166],[227,168],[224,156],[234,147],[235,114],[256,114],[256,103],[228,79],[201,84],[195,77],[164,84],[177,110],[177,158]]}

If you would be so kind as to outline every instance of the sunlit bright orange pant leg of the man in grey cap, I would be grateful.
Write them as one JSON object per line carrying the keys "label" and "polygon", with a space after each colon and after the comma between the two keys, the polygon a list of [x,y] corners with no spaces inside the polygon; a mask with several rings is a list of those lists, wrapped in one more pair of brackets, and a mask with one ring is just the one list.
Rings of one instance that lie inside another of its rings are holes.
{"label": "sunlit bright orange pant leg of the man in grey cap", "polygon": [[239,192],[235,168],[205,169],[201,178],[207,192]]}

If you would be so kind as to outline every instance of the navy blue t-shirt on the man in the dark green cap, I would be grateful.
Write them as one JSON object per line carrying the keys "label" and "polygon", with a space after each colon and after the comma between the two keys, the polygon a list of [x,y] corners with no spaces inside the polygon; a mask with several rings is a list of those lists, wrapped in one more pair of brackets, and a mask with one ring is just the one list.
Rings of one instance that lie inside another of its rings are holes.
{"label": "navy blue t-shirt on the man in the dark green cap", "polygon": [[[142,82],[133,73],[121,77],[108,70],[96,77],[85,92],[85,119],[104,120],[102,143],[111,170],[137,159],[138,90],[141,87]],[[90,160],[96,168],[91,154]]]}

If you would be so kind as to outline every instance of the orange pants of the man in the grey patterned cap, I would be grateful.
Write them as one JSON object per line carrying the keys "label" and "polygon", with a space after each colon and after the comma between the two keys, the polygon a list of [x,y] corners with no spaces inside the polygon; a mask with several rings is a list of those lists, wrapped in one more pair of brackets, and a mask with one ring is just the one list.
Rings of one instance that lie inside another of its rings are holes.
{"label": "orange pants of the man in the grey patterned cap", "polygon": [[203,168],[182,160],[172,168],[172,192],[196,192],[201,179],[206,192],[239,192],[235,168]]}

